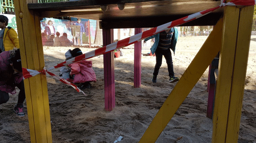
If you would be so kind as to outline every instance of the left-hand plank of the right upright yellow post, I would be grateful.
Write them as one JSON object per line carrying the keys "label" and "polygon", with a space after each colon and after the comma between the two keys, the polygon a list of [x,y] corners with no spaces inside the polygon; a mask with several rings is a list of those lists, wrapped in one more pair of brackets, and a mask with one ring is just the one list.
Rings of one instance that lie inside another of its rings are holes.
{"label": "left-hand plank of the right upright yellow post", "polygon": [[213,143],[225,142],[238,18],[239,8],[236,8],[235,6],[225,7],[222,49],[220,51],[218,69],[219,76],[216,83],[213,114]]}

